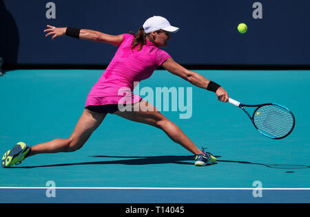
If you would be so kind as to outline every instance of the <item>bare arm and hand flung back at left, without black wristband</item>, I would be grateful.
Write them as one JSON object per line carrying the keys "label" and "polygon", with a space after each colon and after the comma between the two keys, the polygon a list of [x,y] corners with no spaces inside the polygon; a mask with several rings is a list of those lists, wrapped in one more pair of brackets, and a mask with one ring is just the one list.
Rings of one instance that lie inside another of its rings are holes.
{"label": "bare arm and hand flung back at left, without black wristband", "polygon": [[[48,32],[48,34],[45,35],[46,37],[52,35],[52,40],[54,40],[56,37],[64,36],[66,31],[67,27],[53,27],[52,25],[48,25],[48,29],[44,30],[44,32]],[[81,29],[79,39],[109,43],[115,46],[119,46],[123,42],[123,34],[114,36],[94,30]]]}

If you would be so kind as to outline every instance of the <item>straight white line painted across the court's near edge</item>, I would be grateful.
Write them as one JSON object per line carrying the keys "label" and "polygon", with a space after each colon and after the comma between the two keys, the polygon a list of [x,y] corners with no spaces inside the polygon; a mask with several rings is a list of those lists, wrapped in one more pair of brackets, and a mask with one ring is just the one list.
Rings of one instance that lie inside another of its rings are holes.
{"label": "straight white line painted across the court's near edge", "polygon": [[310,190],[310,188],[258,187],[0,187],[1,189],[68,189],[68,190]]}

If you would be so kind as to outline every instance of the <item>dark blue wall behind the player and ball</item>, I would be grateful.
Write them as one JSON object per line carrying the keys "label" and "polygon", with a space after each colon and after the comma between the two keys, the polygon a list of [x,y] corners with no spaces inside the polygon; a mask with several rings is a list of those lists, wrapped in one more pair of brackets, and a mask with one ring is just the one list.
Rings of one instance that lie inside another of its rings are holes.
{"label": "dark blue wall behind the player and ball", "polygon": [[[47,19],[44,0],[0,0],[0,56],[7,64],[107,65],[116,47],[63,37],[51,41],[47,24],[107,34],[138,30],[149,16],[167,17],[180,32],[165,48],[189,65],[310,65],[310,1],[260,0],[254,19],[249,0],[51,0],[56,19]],[[247,34],[237,31],[247,23]]]}

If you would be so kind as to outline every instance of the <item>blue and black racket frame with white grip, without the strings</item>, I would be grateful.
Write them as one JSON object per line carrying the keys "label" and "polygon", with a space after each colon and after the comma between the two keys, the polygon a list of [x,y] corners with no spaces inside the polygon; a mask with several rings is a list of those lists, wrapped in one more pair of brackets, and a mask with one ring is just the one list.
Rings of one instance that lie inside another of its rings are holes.
{"label": "blue and black racket frame with white grip, without the strings", "polygon": [[[256,130],[258,130],[258,132],[260,132],[262,135],[265,135],[265,137],[269,137],[270,139],[284,139],[285,137],[287,137],[288,135],[291,134],[291,132],[293,131],[294,127],[295,127],[295,116],[293,115],[293,113],[287,109],[287,107],[282,106],[280,104],[276,104],[276,103],[265,103],[265,104],[256,104],[256,105],[249,105],[249,104],[242,104],[236,100],[233,100],[231,98],[229,98],[229,103],[233,104],[234,106],[239,107],[240,109],[242,109],[243,111],[245,111],[245,113],[247,114],[247,116],[249,116],[249,119],[251,119],[252,124],[254,125],[254,127],[256,128]],[[289,111],[289,113],[291,113],[291,116],[293,117],[293,126],[291,128],[291,130],[289,131],[289,133],[287,133],[286,135],[282,136],[282,137],[271,137],[269,135],[266,135],[265,133],[262,133],[262,131],[256,126],[255,122],[254,122],[254,115],[256,114],[256,111],[258,111],[258,109],[260,109],[262,106],[271,106],[271,105],[276,105],[276,106],[280,106],[283,109],[286,109],[287,111]],[[249,112],[247,110],[245,110],[245,108],[243,107],[257,107],[253,113],[253,115],[250,115]]]}

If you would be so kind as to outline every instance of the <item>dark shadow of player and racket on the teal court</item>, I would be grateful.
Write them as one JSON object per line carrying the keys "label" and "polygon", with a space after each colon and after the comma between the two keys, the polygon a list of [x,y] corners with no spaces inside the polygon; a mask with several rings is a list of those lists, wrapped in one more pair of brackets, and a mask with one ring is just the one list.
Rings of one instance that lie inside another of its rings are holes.
{"label": "dark shadow of player and racket on the teal court", "polygon": [[[49,167],[63,167],[70,165],[107,165],[107,164],[123,164],[123,165],[149,165],[149,164],[163,164],[163,163],[176,163],[182,165],[193,165],[194,157],[193,155],[187,156],[152,156],[152,157],[132,157],[132,156],[105,156],[105,155],[94,155],[90,156],[93,158],[125,158],[124,160],[116,161],[93,161],[93,162],[83,162],[83,163],[60,163],[51,165],[35,165],[35,166],[24,166],[24,167],[12,167],[13,168],[49,168]],[[216,156],[220,158],[221,156]],[[191,162],[185,162],[191,161]],[[289,165],[289,164],[266,164],[266,163],[253,163],[249,161],[225,161],[218,160],[218,162],[223,163],[241,163],[247,165],[263,165],[267,168],[282,169],[282,170],[302,170],[309,169],[309,165]]]}

